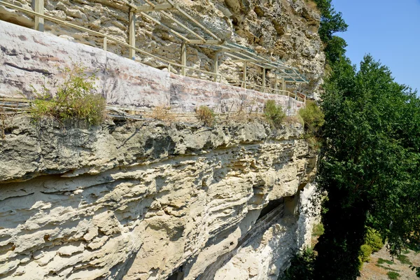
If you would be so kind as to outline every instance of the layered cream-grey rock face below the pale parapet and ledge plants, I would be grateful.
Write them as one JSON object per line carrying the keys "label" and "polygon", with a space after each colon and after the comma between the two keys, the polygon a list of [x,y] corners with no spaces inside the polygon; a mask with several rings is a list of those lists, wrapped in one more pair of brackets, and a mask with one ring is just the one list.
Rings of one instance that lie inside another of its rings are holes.
{"label": "layered cream-grey rock face below the pale parapet and ledge plants", "polygon": [[276,279],[315,162],[301,125],[17,118],[0,140],[0,277]]}

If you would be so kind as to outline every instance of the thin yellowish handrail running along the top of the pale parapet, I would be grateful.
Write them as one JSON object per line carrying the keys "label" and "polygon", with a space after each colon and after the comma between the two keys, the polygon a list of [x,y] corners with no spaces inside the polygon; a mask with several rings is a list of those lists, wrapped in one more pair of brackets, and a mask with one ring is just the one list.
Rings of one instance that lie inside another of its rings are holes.
{"label": "thin yellowish handrail running along the top of the pale parapet", "polygon": [[[112,41],[113,43],[116,43],[117,45],[121,45],[123,47],[126,47],[129,50],[135,50],[136,52],[139,52],[139,53],[141,53],[142,55],[144,55],[148,58],[153,58],[155,60],[158,60],[159,62],[161,62],[164,65],[166,64],[167,71],[169,73],[171,73],[172,69],[174,69],[174,66],[176,66],[176,67],[179,67],[179,68],[182,69],[181,73],[185,73],[185,76],[190,76],[192,78],[199,78],[199,79],[204,80],[200,76],[193,76],[192,74],[188,74],[188,71],[186,71],[186,70],[197,71],[197,72],[203,73],[207,76],[210,76],[214,82],[226,83],[228,85],[233,85],[233,86],[236,86],[236,85],[240,84],[241,87],[244,87],[244,88],[246,88],[247,85],[250,85],[252,87],[257,87],[257,88],[262,89],[262,90],[257,90],[257,91],[260,91],[260,92],[267,92],[267,93],[274,92],[274,94],[281,94],[281,95],[287,95],[288,97],[293,97],[299,102],[306,102],[306,97],[305,98],[298,97],[297,94],[295,94],[293,92],[289,92],[288,90],[277,90],[277,89],[274,89],[272,87],[264,87],[262,85],[257,85],[255,83],[249,83],[249,82],[245,82],[245,81],[239,81],[239,83],[228,83],[228,82],[225,82],[225,81],[230,80],[230,78],[222,75],[221,73],[214,73],[214,72],[211,72],[211,71],[205,71],[205,70],[202,70],[202,69],[198,69],[198,68],[186,66],[186,65],[183,65],[183,64],[179,64],[177,62],[170,61],[170,60],[162,58],[162,57],[158,57],[156,55],[151,54],[150,52],[146,52],[145,50],[141,50],[139,48],[136,48],[135,46],[130,45],[129,43],[126,43],[124,41],[120,41],[116,38],[113,38],[112,36],[103,34],[103,33],[98,32],[98,31],[93,31],[93,30],[87,29],[85,27],[80,27],[78,25],[74,25],[74,24],[72,24],[70,22],[66,22],[64,20],[59,20],[59,19],[54,18],[50,15],[45,15],[43,13],[37,13],[34,10],[28,10],[28,9],[22,8],[20,6],[16,6],[12,3],[8,3],[6,1],[0,0],[0,5],[6,6],[8,8],[13,8],[15,10],[20,10],[23,13],[28,13],[29,15],[34,15],[35,17],[43,18],[44,20],[49,20],[50,22],[56,22],[59,25],[64,25],[66,27],[71,27],[71,28],[74,28],[74,29],[78,29],[80,31],[87,32],[87,34],[91,34],[93,36],[97,36],[99,38],[102,38],[103,39],[103,48],[104,48],[105,51],[107,51],[108,41]],[[80,42],[80,43],[82,43],[82,42]],[[142,62],[140,62],[140,63],[142,63]],[[225,78],[225,80],[222,80],[222,78]]]}

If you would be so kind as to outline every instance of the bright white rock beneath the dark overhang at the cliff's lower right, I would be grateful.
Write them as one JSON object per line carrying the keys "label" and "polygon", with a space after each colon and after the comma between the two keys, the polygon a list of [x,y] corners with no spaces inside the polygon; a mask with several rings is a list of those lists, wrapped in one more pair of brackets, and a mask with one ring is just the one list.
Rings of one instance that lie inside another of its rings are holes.
{"label": "bright white rock beneath the dark overhang at the cliff's lower right", "polygon": [[[208,279],[270,279],[277,280],[297,248],[311,245],[314,224],[319,223],[319,210],[312,207],[315,185],[307,184],[300,193],[299,218],[277,218],[268,230],[260,232],[247,246],[237,248],[235,255]],[[207,279],[207,278],[204,278]]]}

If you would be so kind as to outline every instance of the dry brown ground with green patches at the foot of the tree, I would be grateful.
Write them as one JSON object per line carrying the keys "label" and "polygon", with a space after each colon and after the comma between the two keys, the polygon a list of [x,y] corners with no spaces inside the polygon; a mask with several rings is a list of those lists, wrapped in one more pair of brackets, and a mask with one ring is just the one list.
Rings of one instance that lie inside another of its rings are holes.
{"label": "dry brown ground with green patches at the foot of the tree", "polygon": [[[386,246],[381,248],[377,253],[370,256],[370,262],[363,264],[363,269],[360,271],[358,280],[382,280],[382,279],[398,279],[398,280],[420,280],[419,277],[409,268],[409,263],[419,267],[420,253],[411,250],[403,251],[402,257],[391,258]],[[406,257],[404,257],[406,256]],[[402,260],[402,262],[401,262]],[[403,263],[406,262],[406,263]],[[391,275],[388,275],[391,273]]]}

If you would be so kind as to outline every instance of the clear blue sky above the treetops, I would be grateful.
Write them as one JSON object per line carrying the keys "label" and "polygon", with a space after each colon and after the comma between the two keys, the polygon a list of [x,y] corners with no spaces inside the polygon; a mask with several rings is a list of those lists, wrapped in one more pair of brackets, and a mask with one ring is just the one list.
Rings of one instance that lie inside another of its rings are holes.
{"label": "clear blue sky above the treetops", "polygon": [[[370,53],[395,81],[420,91],[420,0],[332,0],[349,28],[338,33],[346,56],[360,64]],[[420,92],[418,92],[420,94]]]}

